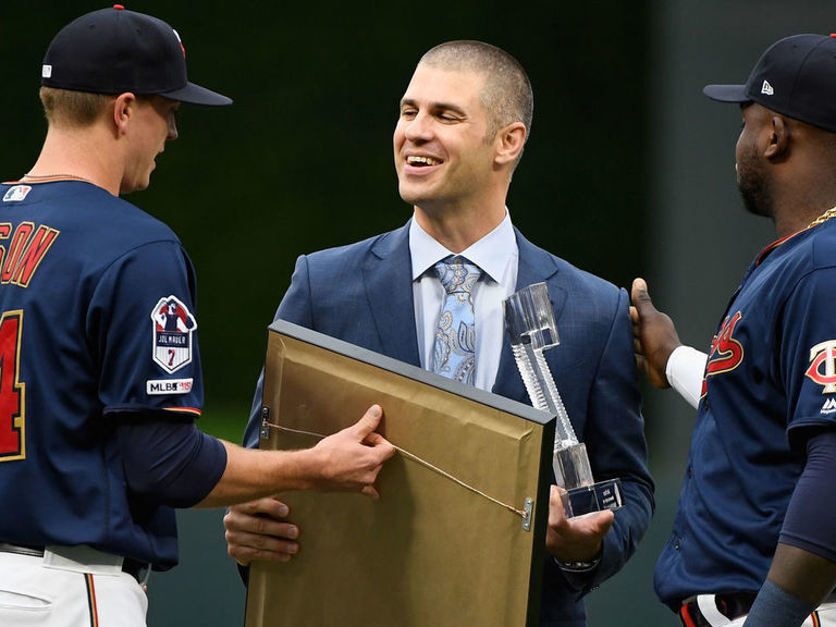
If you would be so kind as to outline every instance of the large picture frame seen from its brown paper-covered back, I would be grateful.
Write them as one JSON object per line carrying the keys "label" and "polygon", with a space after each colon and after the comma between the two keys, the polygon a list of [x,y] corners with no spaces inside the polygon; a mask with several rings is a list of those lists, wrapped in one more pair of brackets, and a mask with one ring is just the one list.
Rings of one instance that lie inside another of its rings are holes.
{"label": "large picture frame seen from its brown paper-covered back", "polygon": [[380,500],[287,492],[302,550],[253,563],[247,627],[537,625],[554,418],[287,322],[269,329],[260,447],[383,407]]}

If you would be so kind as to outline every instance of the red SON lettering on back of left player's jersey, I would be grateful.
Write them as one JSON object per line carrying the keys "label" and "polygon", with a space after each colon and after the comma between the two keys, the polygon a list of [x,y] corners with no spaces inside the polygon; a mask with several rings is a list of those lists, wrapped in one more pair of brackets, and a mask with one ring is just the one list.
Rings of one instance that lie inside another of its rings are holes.
{"label": "red SON lettering on back of left player's jersey", "polygon": [[27,287],[44,256],[58,238],[59,231],[45,224],[35,229],[32,222],[21,222],[14,233],[10,222],[0,223],[0,283]]}

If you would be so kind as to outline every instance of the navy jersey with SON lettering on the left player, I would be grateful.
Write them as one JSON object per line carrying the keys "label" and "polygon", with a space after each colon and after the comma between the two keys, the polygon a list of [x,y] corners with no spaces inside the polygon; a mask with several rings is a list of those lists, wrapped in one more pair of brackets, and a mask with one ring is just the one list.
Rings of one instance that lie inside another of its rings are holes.
{"label": "navy jersey with SON lettering on the left player", "polygon": [[95,185],[0,198],[0,541],[171,566],[174,512],[131,493],[114,430],[200,414],[192,263],[165,224]]}

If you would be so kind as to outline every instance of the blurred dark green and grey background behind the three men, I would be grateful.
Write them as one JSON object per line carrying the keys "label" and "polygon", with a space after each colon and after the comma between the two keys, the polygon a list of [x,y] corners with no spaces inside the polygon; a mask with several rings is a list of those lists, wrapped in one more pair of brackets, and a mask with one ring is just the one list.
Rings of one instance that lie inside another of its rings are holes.
{"label": "blurred dark green and grey background behind the three men", "polygon": [[[0,16],[0,176],[34,163],[51,37],[107,3],[27,0]],[[463,0],[421,4],[137,0],[180,33],[189,78],[229,109],[181,109],[180,139],[128,199],[169,223],[198,273],[201,427],[237,441],[266,328],[304,253],[397,228],[391,136],[416,61],[474,38],[513,53],[534,122],[508,207],[536,244],[629,288],[649,279],[686,342],[704,347],[751,257],[772,238],[739,210],[739,114],[700,95],[746,79],[779,37],[836,29],[832,0]],[[560,348],[556,348],[560,349]],[[557,382],[560,386],[560,381]],[[691,411],[642,381],[657,512],[637,556],[588,599],[592,626],[676,625],[652,570],[667,538]],[[7,513],[5,515],[9,515]],[[181,566],[151,577],[149,625],[241,625],[244,588],[220,512],[181,512]]]}

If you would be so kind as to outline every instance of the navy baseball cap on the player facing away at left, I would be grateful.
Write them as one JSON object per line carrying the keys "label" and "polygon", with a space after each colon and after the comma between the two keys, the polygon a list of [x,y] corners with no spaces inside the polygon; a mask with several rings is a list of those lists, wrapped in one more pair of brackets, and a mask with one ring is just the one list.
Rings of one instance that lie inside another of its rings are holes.
{"label": "navy baseball cap on the player facing away at left", "polygon": [[232,99],[186,78],[186,49],[162,20],[121,4],[82,15],[47,49],[41,85],[91,94],[160,95],[193,104]]}

